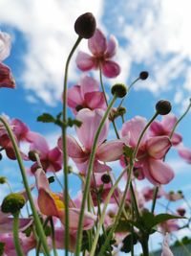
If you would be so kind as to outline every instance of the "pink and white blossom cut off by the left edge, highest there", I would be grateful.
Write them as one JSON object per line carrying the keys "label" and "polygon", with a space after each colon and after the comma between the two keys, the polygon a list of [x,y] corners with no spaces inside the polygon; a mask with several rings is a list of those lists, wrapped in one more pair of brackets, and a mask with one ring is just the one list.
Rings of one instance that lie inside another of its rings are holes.
{"label": "pink and white blossom cut off by the left edge, highest there", "polygon": [[11,75],[11,69],[2,63],[8,58],[11,52],[11,36],[7,33],[0,32],[0,88],[14,88],[15,81]]}

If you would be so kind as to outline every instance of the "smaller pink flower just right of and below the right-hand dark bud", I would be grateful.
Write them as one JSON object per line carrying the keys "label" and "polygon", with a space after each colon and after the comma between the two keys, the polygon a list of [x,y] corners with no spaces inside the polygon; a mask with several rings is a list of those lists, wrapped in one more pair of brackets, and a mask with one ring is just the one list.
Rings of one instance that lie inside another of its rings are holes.
{"label": "smaller pink flower just right of and below the right-hand dark bud", "polygon": [[[162,135],[169,136],[177,120],[178,120],[177,117],[173,114],[162,116],[161,122],[154,121],[151,124],[150,135],[151,136],[162,136]],[[177,146],[178,144],[180,144],[181,140],[182,140],[181,135],[179,133],[174,132],[171,139],[172,145]]]}

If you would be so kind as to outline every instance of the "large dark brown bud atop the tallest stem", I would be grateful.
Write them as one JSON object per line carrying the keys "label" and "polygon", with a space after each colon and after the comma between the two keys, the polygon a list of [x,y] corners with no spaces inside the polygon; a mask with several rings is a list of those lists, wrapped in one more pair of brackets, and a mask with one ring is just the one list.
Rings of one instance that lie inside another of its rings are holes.
{"label": "large dark brown bud atop the tallest stem", "polygon": [[74,31],[82,38],[91,38],[96,31],[96,19],[93,13],[86,12],[80,15],[74,23]]}

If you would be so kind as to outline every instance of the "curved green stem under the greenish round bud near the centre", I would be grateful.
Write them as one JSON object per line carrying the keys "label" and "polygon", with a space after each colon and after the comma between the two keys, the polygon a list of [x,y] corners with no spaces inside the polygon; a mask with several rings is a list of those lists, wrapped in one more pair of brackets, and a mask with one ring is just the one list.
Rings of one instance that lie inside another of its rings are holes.
{"label": "curved green stem under the greenish round bud near the centre", "polygon": [[82,241],[82,226],[83,226],[83,219],[84,219],[84,211],[85,211],[85,203],[87,201],[88,198],[88,193],[90,190],[90,181],[91,181],[91,174],[92,174],[92,170],[93,170],[93,166],[94,166],[94,161],[95,161],[95,155],[96,155],[96,144],[98,141],[98,136],[101,132],[101,129],[103,128],[105,121],[109,115],[109,112],[112,108],[112,106],[114,105],[114,103],[117,100],[117,96],[114,95],[114,98],[112,100],[112,102],[110,103],[110,105],[108,105],[107,110],[104,113],[104,116],[99,124],[99,127],[97,128],[96,131],[96,136],[95,136],[95,140],[94,140],[94,144],[93,144],[93,148],[91,151],[91,155],[90,155],[90,160],[89,160],[89,166],[88,166],[88,171],[87,171],[87,177],[86,177],[86,184],[85,184],[85,188],[84,188],[84,192],[83,192],[83,198],[82,198],[82,202],[81,202],[81,210],[80,210],[80,215],[79,215],[79,222],[78,222],[78,228],[77,228],[77,241],[76,241],[76,247],[75,247],[75,256],[79,256],[80,254],[80,248],[81,248],[81,241]]}

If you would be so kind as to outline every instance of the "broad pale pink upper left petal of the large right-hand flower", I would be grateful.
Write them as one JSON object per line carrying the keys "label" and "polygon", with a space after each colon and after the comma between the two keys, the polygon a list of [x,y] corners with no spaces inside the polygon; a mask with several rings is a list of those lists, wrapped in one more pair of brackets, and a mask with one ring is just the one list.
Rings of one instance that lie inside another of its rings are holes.
{"label": "broad pale pink upper left petal of the large right-hand flower", "polygon": [[[145,128],[146,123],[147,122],[145,118],[141,116],[136,116],[135,118],[123,124],[121,134],[122,137],[127,137],[128,144],[130,144],[130,146],[136,147],[140,133],[143,130],[143,128]],[[140,142],[140,147],[145,143],[147,137],[148,134],[145,133]]]}

